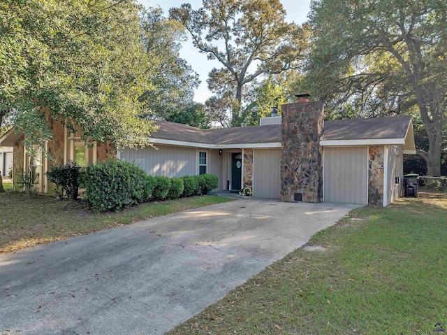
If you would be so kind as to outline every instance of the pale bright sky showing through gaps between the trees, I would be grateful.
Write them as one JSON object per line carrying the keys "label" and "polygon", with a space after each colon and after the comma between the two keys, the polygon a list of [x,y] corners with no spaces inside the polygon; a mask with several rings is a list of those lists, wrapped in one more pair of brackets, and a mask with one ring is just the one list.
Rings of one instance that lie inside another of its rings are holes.
{"label": "pale bright sky showing through gaps between the trees", "polygon": [[[160,6],[164,10],[165,15],[168,15],[169,8],[179,7],[182,3],[191,3],[193,9],[198,9],[202,6],[201,0],[138,0],[138,2],[146,7]],[[287,11],[287,21],[301,24],[307,20],[310,0],[281,0],[281,3]],[[220,63],[217,60],[208,60],[207,55],[198,52],[198,49],[193,47],[190,39],[183,43],[182,50],[180,50],[180,57],[186,59],[191,64],[193,70],[200,76],[201,83],[194,94],[194,100],[205,103],[211,96],[206,82],[208,73],[214,67],[220,68]]]}

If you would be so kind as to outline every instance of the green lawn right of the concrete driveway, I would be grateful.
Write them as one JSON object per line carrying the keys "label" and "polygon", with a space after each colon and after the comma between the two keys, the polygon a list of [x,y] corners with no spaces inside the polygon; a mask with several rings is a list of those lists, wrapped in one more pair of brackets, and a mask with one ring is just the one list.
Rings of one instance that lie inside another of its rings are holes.
{"label": "green lawn right of the concrete driveway", "polygon": [[445,200],[356,209],[168,334],[437,334],[446,241]]}

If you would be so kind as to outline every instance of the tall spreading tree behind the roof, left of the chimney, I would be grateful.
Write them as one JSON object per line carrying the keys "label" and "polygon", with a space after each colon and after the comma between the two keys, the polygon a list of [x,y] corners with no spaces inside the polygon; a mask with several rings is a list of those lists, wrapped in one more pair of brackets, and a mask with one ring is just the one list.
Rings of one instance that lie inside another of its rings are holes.
{"label": "tall spreading tree behind the roof, left of the chimney", "polygon": [[[230,108],[233,127],[247,117],[244,87],[258,76],[297,69],[307,51],[307,29],[285,21],[279,0],[203,0],[203,8],[184,3],[171,8],[170,16],[182,22],[200,52],[222,64],[209,75],[210,90],[217,93],[210,104]],[[223,113],[217,113],[222,121]]]}

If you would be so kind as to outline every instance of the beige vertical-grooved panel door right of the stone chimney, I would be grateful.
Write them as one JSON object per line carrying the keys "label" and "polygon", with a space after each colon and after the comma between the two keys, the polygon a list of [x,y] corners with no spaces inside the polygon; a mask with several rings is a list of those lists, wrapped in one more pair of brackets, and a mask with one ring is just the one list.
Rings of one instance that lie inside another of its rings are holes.
{"label": "beige vertical-grooved panel door right of the stone chimney", "polygon": [[324,148],[323,201],[367,204],[367,147]]}

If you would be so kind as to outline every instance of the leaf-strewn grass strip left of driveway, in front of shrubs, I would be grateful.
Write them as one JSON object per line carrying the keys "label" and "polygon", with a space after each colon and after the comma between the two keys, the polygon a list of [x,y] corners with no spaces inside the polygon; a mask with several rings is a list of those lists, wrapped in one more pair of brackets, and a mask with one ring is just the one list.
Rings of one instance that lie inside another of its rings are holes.
{"label": "leaf-strewn grass strip left of driveway, in front of shrubs", "polygon": [[82,202],[0,193],[0,253],[231,200],[197,196],[141,204],[119,213],[92,213]]}

